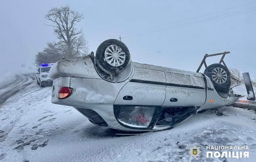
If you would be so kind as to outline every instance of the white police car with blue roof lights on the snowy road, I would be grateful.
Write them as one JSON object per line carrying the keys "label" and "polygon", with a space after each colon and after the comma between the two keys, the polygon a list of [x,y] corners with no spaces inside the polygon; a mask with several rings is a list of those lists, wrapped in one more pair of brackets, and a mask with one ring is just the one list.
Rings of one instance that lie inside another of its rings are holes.
{"label": "white police car with blue roof lights on the snowy road", "polygon": [[36,73],[36,80],[40,87],[44,87],[45,85],[52,85],[53,81],[49,78],[48,75],[52,65],[53,63],[39,65]]}

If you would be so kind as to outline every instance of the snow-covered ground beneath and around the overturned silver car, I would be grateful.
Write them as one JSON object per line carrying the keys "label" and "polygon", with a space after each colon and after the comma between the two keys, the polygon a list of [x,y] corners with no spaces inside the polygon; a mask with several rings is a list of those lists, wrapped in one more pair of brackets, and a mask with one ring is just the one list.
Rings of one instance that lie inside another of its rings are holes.
{"label": "snow-covered ground beneath and around the overturned silver car", "polygon": [[[40,88],[34,76],[1,76],[0,94],[12,96],[0,104],[1,162],[256,159],[256,114],[252,110],[225,106],[194,115],[173,129],[117,135],[127,132],[98,127],[74,108],[52,104],[51,87]],[[22,89],[10,93],[17,87]],[[234,88],[236,93],[245,89],[238,88]],[[188,153],[194,145],[202,151],[196,159]],[[249,158],[206,158],[206,145],[249,146]]]}

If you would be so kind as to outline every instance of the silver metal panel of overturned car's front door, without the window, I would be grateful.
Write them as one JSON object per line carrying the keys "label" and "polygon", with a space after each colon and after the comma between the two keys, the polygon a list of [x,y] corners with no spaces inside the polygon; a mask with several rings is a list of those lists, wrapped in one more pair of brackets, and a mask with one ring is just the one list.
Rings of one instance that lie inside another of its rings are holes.
{"label": "silver metal panel of overturned car's front door, without the window", "polygon": [[202,106],[206,99],[204,78],[201,74],[185,75],[165,72],[166,99],[163,106]]}

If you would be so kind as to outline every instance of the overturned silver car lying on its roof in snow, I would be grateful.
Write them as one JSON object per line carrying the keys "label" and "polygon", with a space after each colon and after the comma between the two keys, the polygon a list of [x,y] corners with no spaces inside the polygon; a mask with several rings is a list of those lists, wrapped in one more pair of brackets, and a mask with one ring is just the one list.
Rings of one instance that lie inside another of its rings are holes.
{"label": "overturned silver car lying on its roof in snow", "polygon": [[116,39],[94,54],[66,58],[50,70],[52,103],[73,106],[90,122],[126,131],[171,128],[199,110],[233,104],[230,73],[222,64],[196,73],[131,61]]}

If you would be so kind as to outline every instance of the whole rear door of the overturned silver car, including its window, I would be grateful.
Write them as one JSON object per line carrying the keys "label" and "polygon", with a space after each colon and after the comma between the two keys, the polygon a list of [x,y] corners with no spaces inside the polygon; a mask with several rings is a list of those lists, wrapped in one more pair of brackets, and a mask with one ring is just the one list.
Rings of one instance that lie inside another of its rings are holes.
{"label": "whole rear door of the overturned silver car, including its window", "polygon": [[152,129],[164,103],[166,79],[163,71],[135,67],[114,102],[114,114],[124,127]]}

